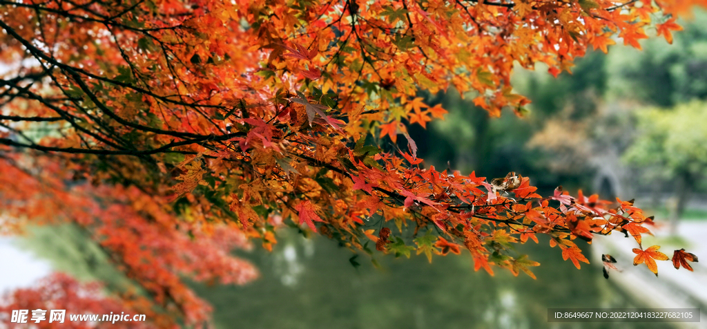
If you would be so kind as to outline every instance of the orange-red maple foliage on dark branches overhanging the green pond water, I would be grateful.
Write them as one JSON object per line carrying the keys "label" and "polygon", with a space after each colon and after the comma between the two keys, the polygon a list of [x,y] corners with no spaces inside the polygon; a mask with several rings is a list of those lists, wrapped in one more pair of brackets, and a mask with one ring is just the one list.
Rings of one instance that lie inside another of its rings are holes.
{"label": "orange-red maple foliage on dark branches overhanging the green pond water", "polygon": [[[287,224],[368,253],[465,249],[477,270],[531,277],[539,264],[513,245],[546,235],[579,268],[575,238],[619,231],[640,247],[652,218],[631,201],[538,195],[520,173],[423,166],[407,127],[447,111],[419,92],[453,86],[522,115],[515,65],[556,76],[616,37],[640,48],[655,28],[670,42],[695,4],[0,0],[2,228],[77,224],[185,323],[209,307],[182,277],[255,278],[230,250],[271,249]],[[667,259],[634,252],[653,272]]]}

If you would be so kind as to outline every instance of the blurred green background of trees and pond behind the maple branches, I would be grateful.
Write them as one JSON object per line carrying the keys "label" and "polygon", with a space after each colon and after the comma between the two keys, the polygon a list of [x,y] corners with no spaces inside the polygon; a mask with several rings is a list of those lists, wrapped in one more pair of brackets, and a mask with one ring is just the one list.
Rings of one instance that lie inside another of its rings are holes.
{"label": "blurred green background of trees and pond behind the maple branches", "polygon": [[[696,250],[707,250],[702,233],[707,232],[707,14],[695,16],[682,21],[685,30],[675,34],[673,45],[654,38],[642,43],[643,51],[617,45],[608,55],[589,52],[573,74],[558,79],[542,67],[519,71],[515,87],[533,102],[525,117],[508,111],[490,118],[474,107],[473,97],[462,99],[454,91],[426,96],[450,113],[427,130],[411,127],[419,156],[428,166],[474,170],[489,178],[515,171],[544,194],[563,185],[607,199],[635,197],[665,223],[668,233],[653,242],[688,246],[701,255]],[[650,273],[634,279],[631,247],[618,248],[607,239],[582,246],[592,265],[581,270],[563,261],[547,240],[519,246],[541,263],[533,280],[499,269],[494,277],[474,272],[471,257],[463,253],[436,257],[431,264],[423,255],[409,260],[379,255],[380,268],[370,256],[358,255],[353,260],[361,266],[354,267],[349,261],[354,253],[325,238],[305,239],[292,229],[281,230],[278,238],[272,253],[238,251],[262,272],[256,282],[193,284],[213,304],[218,328],[704,328],[700,323],[547,323],[547,308],[553,307],[707,303],[704,267],[671,277],[662,274],[674,271],[665,265],[658,279]],[[35,229],[21,246],[52,260],[57,270],[108,282],[107,289],[124,284],[73,226]],[[626,270],[609,280],[597,265],[605,250],[617,250]],[[681,285],[689,280],[698,283]],[[643,290],[648,295],[636,294]]]}

